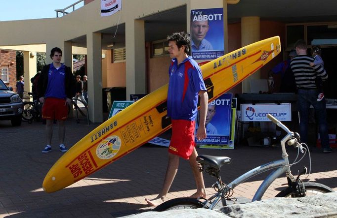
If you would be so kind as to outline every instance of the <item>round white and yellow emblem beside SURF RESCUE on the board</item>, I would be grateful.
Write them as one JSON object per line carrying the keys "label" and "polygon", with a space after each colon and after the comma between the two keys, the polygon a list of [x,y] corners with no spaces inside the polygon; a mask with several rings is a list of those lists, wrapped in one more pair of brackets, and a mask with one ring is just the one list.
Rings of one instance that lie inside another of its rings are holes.
{"label": "round white and yellow emblem beside SURF RESCUE on the board", "polygon": [[101,143],[96,148],[96,156],[100,159],[110,159],[117,155],[121,148],[121,139],[116,136],[110,136],[103,139]]}

